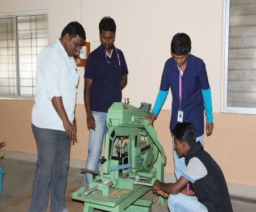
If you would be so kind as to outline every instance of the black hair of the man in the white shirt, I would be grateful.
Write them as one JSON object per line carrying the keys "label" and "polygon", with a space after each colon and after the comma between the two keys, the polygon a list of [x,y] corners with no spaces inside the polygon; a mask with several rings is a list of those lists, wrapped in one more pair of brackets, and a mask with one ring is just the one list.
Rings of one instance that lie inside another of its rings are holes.
{"label": "black hair of the man in the white shirt", "polygon": [[72,21],[61,32],[61,37],[68,33],[71,37],[76,37],[77,35],[83,40],[86,40],[85,29],[77,21]]}

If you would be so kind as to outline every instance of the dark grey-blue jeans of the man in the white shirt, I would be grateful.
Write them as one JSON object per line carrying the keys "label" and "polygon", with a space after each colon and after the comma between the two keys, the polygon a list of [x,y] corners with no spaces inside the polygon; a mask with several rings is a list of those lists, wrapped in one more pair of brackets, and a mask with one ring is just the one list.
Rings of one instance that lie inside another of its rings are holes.
{"label": "dark grey-blue jeans of the man in the white shirt", "polygon": [[66,132],[43,129],[32,124],[37,146],[36,172],[33,180],[30,212],[45,212],[49,187],[51,211],[68,211],[65,202],[70,157],[70,141]]}

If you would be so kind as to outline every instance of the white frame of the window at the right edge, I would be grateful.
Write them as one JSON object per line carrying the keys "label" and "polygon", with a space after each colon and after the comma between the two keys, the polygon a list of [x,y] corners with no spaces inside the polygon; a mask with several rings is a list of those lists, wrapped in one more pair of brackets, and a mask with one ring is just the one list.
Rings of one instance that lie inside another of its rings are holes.
{"label": "white frame of the window at the right edge", "polygon": [[229,47],[229,9],[230,0],[223,1],[223,38],[222,38],[222,78],[221,87],[221,112],[233,114],[256,114],[256,108],[249,107],[230,107],[228,106],[228,47]]}

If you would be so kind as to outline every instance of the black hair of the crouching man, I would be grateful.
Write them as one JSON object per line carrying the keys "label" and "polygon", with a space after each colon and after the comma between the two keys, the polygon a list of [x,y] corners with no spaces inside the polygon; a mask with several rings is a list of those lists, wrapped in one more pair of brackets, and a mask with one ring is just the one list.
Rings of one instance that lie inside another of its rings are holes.
{"label": "black hair of the crouching man", "polygon": [[190,147],[196,143],[195,127],[190,122],[176,124],[171,133],[173,133],[174,137],[178,139],[179,142],[185,141]]}

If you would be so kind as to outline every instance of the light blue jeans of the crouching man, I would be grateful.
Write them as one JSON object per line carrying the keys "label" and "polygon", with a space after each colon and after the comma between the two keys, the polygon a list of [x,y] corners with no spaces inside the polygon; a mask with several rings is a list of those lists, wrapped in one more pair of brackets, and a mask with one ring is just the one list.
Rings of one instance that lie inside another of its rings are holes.
{"label": "light blue jeans of the crouching man", "polygon": [[170,194],[168,207],[171,212],[207,212],[208,209],[198,201],[195,196],[187,196],[182,193]]}

